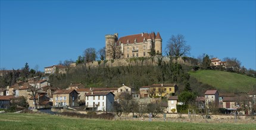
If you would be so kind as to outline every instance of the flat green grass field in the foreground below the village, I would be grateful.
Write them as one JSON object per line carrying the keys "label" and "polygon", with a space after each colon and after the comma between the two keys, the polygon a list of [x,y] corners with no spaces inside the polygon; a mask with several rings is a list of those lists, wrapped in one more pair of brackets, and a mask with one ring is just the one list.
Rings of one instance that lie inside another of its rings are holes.
{"label": "flat green grass field in the foreground below the village", "polygon": [[0,114],[0,129],[255,129],[256,124],[105,121],[41,114]]}

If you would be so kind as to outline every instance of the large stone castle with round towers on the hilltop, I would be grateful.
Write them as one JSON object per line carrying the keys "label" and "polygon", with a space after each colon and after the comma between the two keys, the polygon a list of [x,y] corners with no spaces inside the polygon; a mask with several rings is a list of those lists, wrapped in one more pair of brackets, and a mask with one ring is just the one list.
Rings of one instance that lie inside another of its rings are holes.
{"label": "large stone castle with round towers on the hilltop", "polygon": [[141,33],[127,35],[118,39],[118,34],[105,35],[106,60],[130,57],[149,57],[151,48],[162,53],[162,38],[160,33]]}

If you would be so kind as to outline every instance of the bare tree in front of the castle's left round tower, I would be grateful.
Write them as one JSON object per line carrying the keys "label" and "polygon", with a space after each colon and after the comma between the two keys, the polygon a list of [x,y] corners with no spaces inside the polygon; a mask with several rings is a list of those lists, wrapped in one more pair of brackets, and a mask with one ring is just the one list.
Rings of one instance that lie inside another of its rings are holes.
{"label": "bare tree in front of the castle's left round tower", "polygon": [[107,56],[110,56],[111,59],[121,58],[121,47],[118,46],[116,43],[108,43],[107,50]]}

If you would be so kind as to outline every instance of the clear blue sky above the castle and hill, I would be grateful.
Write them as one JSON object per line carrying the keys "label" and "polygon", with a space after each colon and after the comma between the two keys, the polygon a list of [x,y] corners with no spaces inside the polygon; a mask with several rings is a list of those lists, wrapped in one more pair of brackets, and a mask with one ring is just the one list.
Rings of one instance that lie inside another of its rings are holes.
{"label": "clear blue sky above the castle and hill", "polygon": [[163,50],[183,34],[191,57],[236,57],[256,69],[255,1],[1,1],[0,67],[43,67],[76,60],[86,48],[159,31]]}

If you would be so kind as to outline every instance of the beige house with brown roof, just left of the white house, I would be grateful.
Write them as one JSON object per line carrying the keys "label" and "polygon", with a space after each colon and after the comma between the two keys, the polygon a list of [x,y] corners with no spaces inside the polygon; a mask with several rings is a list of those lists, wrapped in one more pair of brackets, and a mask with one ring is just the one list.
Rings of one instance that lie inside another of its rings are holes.
{"label": "beige house with brown roof, just left of the white house", "polygon": [[78,106],[78,93],[74,89],[56,90],[52,93],[52,99],[54,106]]}

